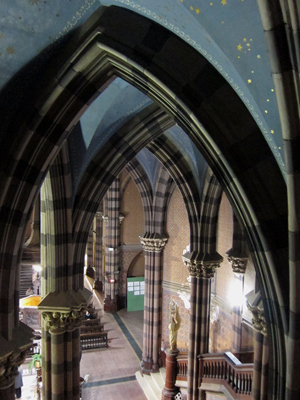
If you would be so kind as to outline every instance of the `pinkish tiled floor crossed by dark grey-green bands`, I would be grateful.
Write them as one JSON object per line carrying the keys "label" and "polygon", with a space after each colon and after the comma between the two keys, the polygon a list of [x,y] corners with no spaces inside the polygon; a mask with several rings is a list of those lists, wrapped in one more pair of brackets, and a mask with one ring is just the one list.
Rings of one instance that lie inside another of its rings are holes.
{"label": "pinkish tiled floor crossed by dark grey-green bands", "polygon": [[[101,317],[107,349],[84,351],[80,364],[83,400],[146,400],[135,379],[142,355],[143,311],[120,310]],[[36,379],[23,373],[22,400],[36,399]]]}

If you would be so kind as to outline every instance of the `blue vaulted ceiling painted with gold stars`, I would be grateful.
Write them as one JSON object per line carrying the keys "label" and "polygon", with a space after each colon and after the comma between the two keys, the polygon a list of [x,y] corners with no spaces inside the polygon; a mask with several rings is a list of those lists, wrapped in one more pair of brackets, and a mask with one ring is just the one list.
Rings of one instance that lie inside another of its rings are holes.
{"label": "blue vaulted ceiling painted with gold stars", "polygon": [[[285,174],[275,91],[254,0],[2,0],[0,88],[36,55],[80,27],[100,6],[110,5],[153,19],[206,57],[244,101]],[[71,146],[77,178],[107,135],[148,104],[144,94],[121,79],[94,101],[77,127],[77,148],[74,141]],[[188,139],[179,129],[174,127],[168,135],[184,143]],[[200,156],[188,150],[193,145],[185,143],[182,148],[199,172]]]}

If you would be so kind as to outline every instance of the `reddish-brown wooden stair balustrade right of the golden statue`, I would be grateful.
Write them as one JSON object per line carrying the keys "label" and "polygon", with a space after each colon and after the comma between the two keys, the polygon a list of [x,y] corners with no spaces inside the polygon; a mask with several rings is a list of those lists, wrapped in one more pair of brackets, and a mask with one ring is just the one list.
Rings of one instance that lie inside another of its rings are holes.
{"label": "reddish-brown wooden stair balustrade right of the golden statue", "polygon": [[[223,385],[237,400],[249,400],[253,364],[242,364],[232,353],[203,354],[199,358],[199,387],[205,383]],[[187,380],[188,355],[177,357],[177,380]]]}

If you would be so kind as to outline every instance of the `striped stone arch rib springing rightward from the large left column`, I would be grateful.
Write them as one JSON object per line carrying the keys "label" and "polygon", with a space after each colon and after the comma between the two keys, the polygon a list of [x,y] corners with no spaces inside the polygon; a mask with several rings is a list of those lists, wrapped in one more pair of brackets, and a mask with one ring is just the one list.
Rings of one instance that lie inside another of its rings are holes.
{"label": "striped stone arch rib springing rightward from the large left column", "polygon": [[128,160],[173,123],[168,114],[151,104],[125,123],[89,164],[81,179],[73,209],[75,266],[82,265],[86,235],[97,207],[114,179]]}

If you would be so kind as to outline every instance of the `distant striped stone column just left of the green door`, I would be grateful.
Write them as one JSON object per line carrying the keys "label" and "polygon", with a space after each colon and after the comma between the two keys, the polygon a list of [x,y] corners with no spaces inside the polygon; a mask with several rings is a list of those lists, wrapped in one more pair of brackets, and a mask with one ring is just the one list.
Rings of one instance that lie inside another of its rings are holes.
{"label": "distant striped stone column just left of the green door", "polygon": [[105,298],[104,311],[118,310],[119,251],[120,251],[120,179],[116,178],[106,195]]}

